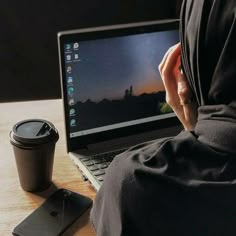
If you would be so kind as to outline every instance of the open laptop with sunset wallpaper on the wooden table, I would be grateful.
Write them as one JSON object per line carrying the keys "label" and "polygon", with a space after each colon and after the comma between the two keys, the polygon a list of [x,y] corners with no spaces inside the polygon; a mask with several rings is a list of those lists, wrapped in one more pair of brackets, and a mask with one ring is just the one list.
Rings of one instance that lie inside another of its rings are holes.
{"label": "open laptop with sunset wallpaper on the wooden table", "polygon": [[117,154],[177,134],[158,65],[178,20],[58,33],[67,152],[96,190]]}

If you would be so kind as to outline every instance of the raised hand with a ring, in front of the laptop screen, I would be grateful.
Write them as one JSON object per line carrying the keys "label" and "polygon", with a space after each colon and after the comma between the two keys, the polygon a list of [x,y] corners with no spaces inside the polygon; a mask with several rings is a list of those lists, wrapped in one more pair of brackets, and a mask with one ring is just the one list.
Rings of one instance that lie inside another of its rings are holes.
{"label": "raised hand with a ring, in front of the laptop screen", "polygon": [[197,123],[197,104],[186,77],[180,71],[180,43],[171,47],[159,65],[166,89],[166,102],[173,109],[185,130],[194,130]]}

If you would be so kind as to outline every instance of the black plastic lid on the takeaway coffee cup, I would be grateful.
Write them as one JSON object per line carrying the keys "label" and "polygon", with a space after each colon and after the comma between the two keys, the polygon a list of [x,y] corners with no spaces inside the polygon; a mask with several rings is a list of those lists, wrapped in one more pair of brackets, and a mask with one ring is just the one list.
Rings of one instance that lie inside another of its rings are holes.
{"label": "black plastic lid on the takeaway coffee cup", "polygon": [[54,125],[46,120],[31,119],[20,121],[12,129],[12,137],[22,144],[57,142],[59,135]]}

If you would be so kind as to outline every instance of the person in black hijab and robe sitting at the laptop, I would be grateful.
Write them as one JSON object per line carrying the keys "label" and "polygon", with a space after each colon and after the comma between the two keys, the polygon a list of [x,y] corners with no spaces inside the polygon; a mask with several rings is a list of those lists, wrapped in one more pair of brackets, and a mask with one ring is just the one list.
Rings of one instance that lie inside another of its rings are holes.
{"label": "person in black hijab and robe sitting at the laptop", "polygon": [[184,0],[180,30],[159,70],[185,131],[114,159],[98,236],[236,235],[236,1]]}

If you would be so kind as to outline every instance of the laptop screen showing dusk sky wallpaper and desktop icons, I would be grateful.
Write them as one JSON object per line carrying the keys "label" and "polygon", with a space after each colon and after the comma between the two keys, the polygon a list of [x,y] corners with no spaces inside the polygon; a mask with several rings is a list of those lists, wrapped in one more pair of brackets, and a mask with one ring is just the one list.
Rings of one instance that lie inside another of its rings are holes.
{"label": "laptop screen showing dusk sky wallpaper and desktop icons", "polygon": [[176,29],[65,40],[64,99],[70,138],[173,117],[158,65]]}

